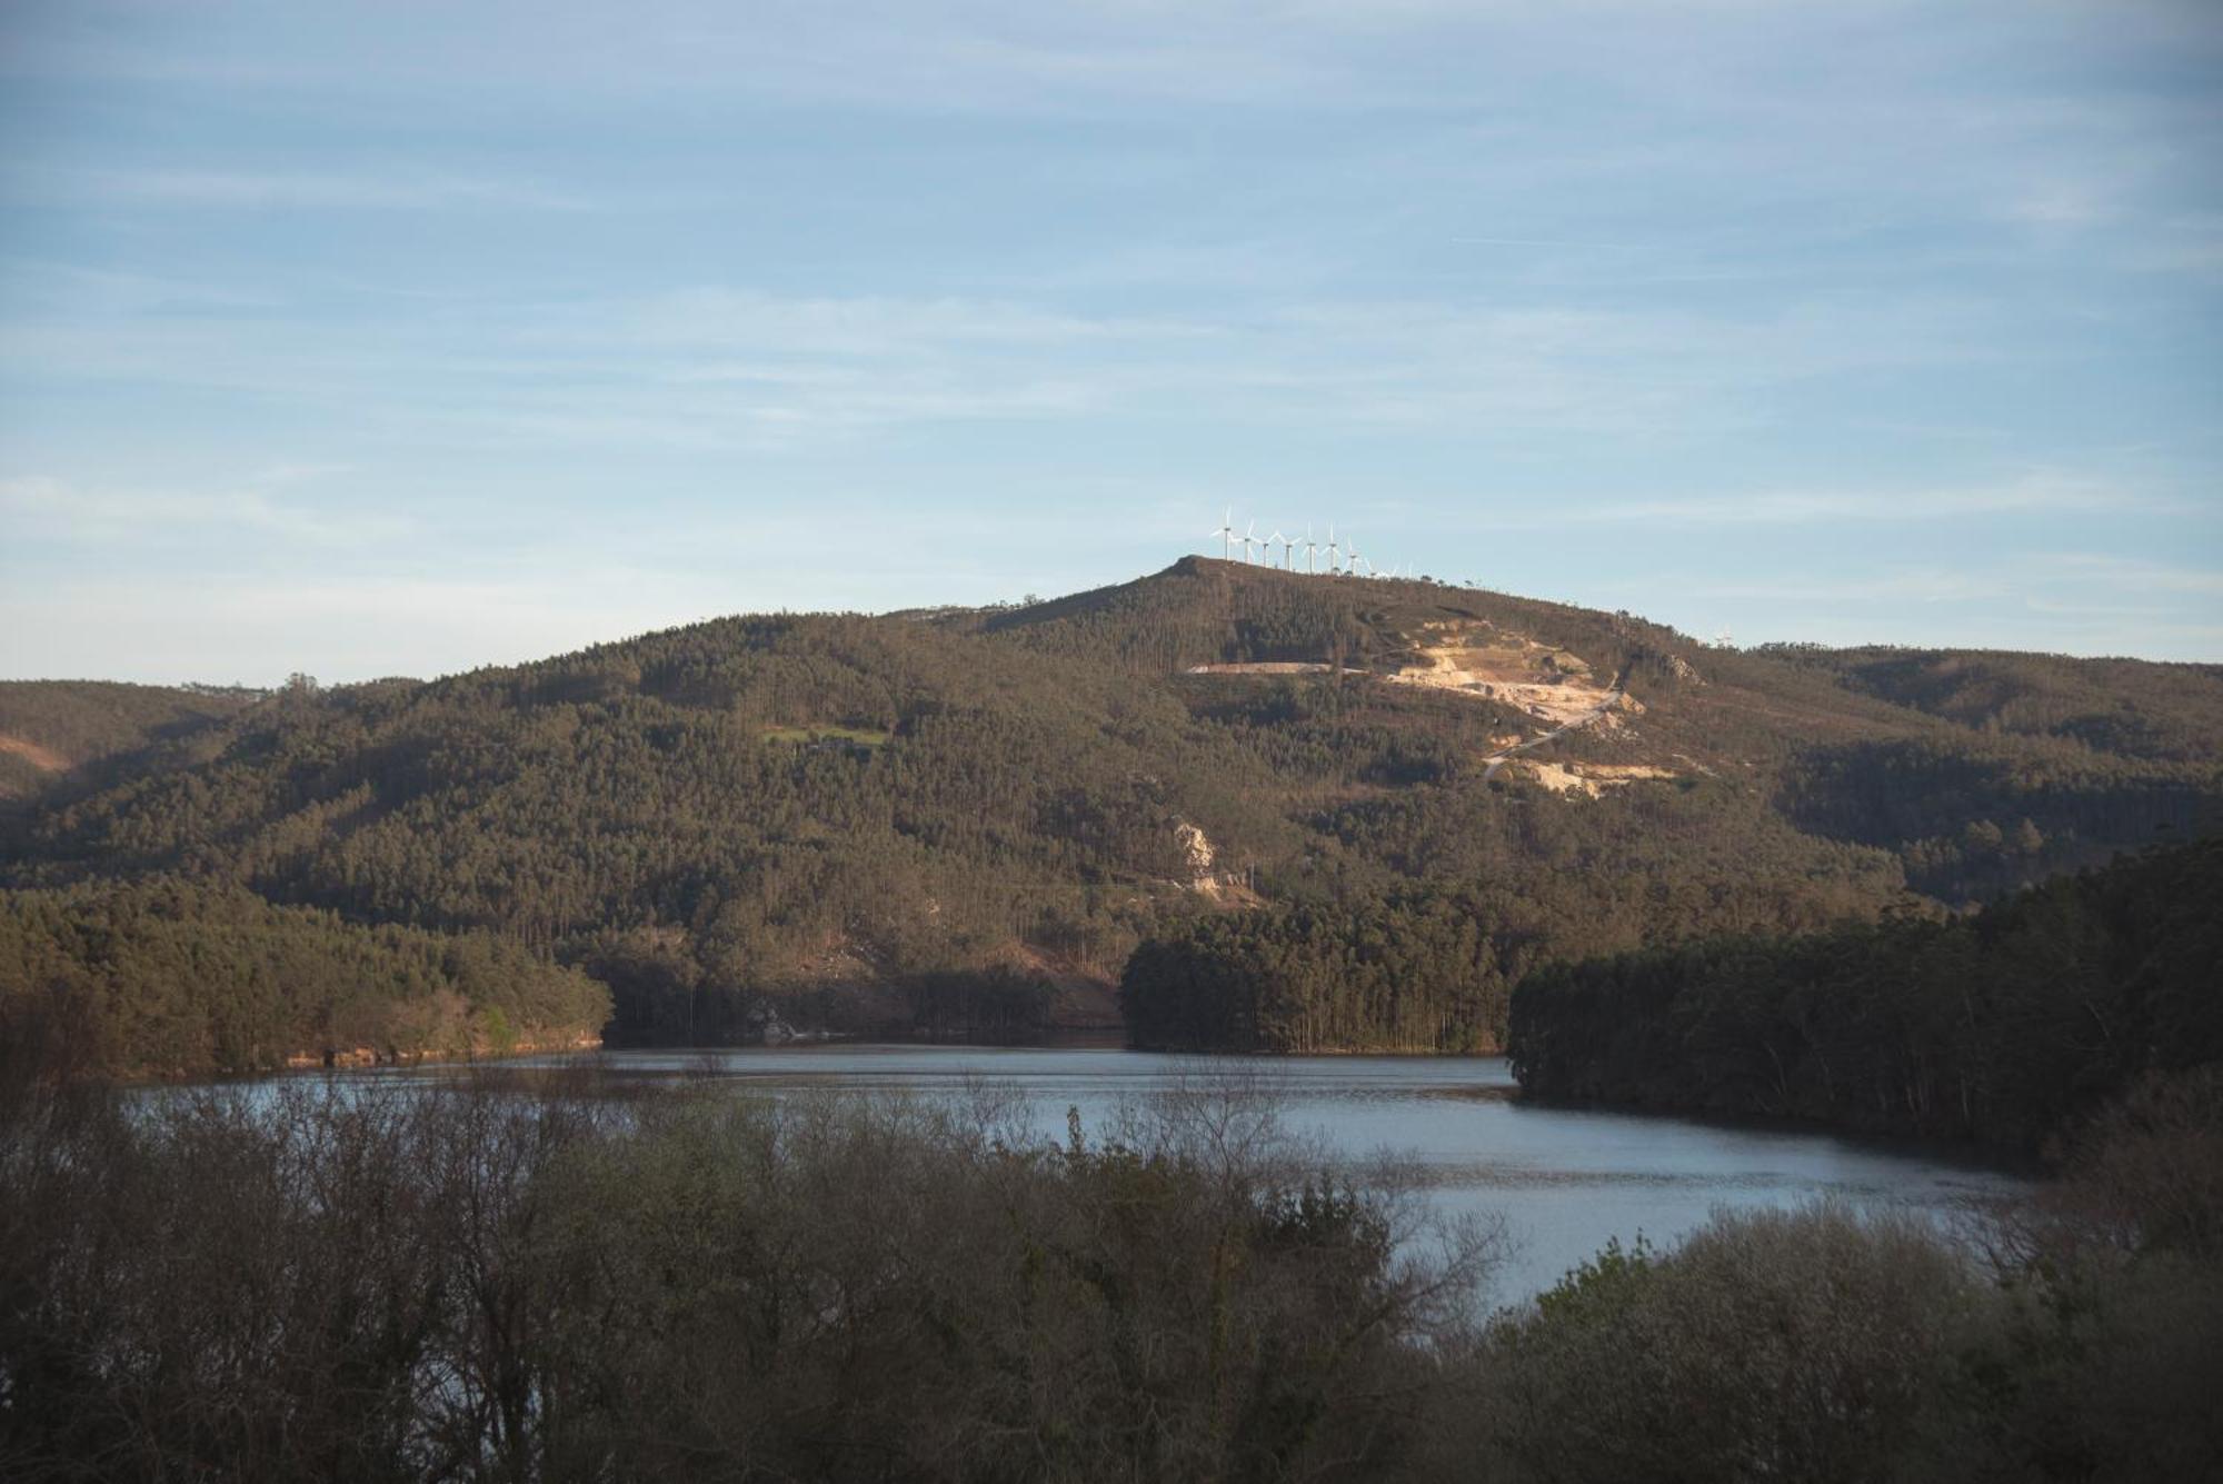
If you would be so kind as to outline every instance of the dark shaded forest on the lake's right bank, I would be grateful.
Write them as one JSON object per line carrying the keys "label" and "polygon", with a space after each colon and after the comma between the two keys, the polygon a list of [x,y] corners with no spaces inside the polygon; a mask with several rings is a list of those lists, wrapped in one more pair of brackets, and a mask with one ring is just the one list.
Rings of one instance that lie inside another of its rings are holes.
{"label": "dark shaded forest on the lake's right bank", "polygon": [[2223,1062],[2223,840],[1950,922],[1549,964],[1512,997],[1523,1089],[2036,1146],[2150,1071]]}

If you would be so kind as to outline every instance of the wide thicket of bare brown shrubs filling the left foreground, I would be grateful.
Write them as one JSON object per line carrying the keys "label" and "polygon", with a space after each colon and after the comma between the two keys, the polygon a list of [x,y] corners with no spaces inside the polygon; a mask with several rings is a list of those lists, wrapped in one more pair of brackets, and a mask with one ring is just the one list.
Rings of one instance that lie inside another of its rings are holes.
{"label": "wide thicket of bare brown shrubs filling the left foreground", "polygon": [[1038,1144],[591,1091],[20,1122],[0,1475],[1367,1477],[1478,1280],[1240,1095]]}

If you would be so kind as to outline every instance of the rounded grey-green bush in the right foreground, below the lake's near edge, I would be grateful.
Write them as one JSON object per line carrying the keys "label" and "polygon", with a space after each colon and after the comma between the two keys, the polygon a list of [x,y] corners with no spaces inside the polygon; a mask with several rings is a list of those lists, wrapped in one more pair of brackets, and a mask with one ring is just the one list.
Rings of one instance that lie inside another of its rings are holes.
{"label": "rounded grey-green bush in the right foreground, below the lake's near edge", "polygon": [[1914,1220],[1716,1217],[1609,1249],[1489,1337],[1492,1442],[1538,1480],[1870,1480],[1925,1437],[1967,1266]]}

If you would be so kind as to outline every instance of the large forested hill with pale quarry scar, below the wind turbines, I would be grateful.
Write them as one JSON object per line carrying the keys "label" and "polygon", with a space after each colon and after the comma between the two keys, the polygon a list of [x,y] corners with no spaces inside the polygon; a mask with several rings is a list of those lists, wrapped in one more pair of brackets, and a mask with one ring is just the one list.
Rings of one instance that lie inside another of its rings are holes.
{"label": "large forested hill with pale quarry scar, below the wind turbines", "polygon": [[[2212,826],[2212,669],[1978,660],[2021,678],[2012,704],[1892,680],[1892,655],[1192,558],[1025,609],[729,618],[227,700],[36,798],[0,884],[160,875],[491,933],[609,984],[620,1040],[674,1040],[845,995],[960,1024],[934,986],[985,971],[1103,1020],[1145,940],[1267,944],[1423,898],[1474,911],[1512,984],[1941,911]],[[1498,1037],[1481,1004],[1445,1044]]]}

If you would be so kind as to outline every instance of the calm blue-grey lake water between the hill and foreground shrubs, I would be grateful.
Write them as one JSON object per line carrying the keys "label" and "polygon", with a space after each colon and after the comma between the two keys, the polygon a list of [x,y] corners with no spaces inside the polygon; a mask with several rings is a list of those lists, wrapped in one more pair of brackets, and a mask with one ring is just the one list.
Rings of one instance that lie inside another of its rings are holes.
{"label": "calm blue-grey lake water between the hill and foreground shrubs", "polygon": [[714,1073],[758,1091],[851,1089],[960,1095],[989,1080],[1025,1095],[1045,1137],[1078,1106],[1096,1129],[1154,1091],[1232,1066],[1283,1097],[1283,1120],[1334,1151],[1394,1151],[1429,1177],[1441,1209],[1503,1213],[1516,1251],[1494,1297],[1556,1282],[1607,1237],[1665,1246],[1718,1206],[1787,1206],[1816,1195],[1950,1215],[2027,1180],[1936,1151],[1825,1133],[1514,1102],[1498,1057],[1283,1057],[1214,1062],[1143,1051],[994,1046],[789,1046],[611,1051],[620,1073]]}

